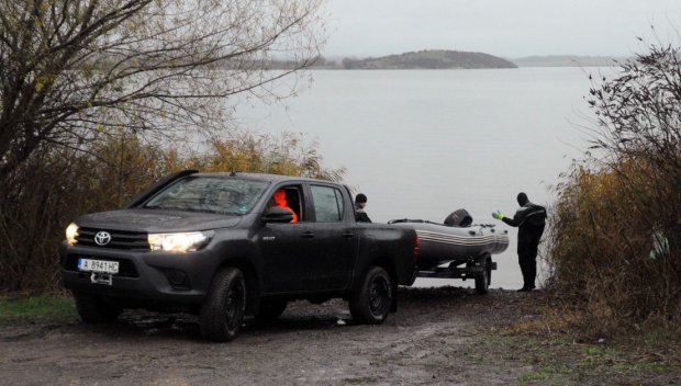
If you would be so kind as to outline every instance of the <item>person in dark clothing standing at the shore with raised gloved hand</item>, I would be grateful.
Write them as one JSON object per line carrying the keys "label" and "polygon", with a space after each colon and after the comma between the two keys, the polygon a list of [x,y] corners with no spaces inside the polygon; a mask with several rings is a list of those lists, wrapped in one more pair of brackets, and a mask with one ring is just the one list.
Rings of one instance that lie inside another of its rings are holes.
{"label": "person in dark clothing standing at the shore with raised gloved hand", "polygon": [[537,276],[537,249],[546,226],[546,208],[529,202],[527,194],[518,193],[517,203],[521,207],[513,218],[505,217],[501,212],[492,213],[492,217],[512,227],[517,227],[517,258],[523,273],[523,287],[518,292],[535,288]]}

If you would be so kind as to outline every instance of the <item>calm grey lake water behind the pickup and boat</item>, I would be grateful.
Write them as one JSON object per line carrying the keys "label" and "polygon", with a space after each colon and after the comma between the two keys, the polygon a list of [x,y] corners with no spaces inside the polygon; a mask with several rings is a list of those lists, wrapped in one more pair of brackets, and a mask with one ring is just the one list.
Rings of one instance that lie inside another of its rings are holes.
{"label": "calm grey lake water behind the pickup and boat", "polygon": [[[493,257],[492,287],[522,276],[515,196],[550,205],[559,173],[588,147],[594,127],[585,95],[600,68],[313,71],[314,82],[286,105],[244,105],[238,117],[258,133],[316,139],[326,167],[346,167],[346,183],[369,197],[373,222],[443,222],[466,208],[476,224],[509,229],[509,249]],[[417,285],[471,285],[417,280]]]}

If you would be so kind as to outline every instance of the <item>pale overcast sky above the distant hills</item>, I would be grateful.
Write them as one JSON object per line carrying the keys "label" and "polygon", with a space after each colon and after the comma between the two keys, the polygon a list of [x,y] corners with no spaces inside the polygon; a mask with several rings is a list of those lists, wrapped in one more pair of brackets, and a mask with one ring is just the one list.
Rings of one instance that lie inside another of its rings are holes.
{"label": "pale overcast sky above the distant hills", "polygon": [[679,42],[681,0],[326,0],[325,56],[420,49],[629,56],[637,36]]}

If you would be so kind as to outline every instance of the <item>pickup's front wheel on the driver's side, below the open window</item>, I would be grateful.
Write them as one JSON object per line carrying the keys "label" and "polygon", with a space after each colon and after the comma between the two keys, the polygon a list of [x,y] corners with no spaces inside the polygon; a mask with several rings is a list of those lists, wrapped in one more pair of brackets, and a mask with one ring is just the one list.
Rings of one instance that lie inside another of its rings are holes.
{"label": "pickup's front wheel on the driver's side, below the open window", "polygon": [[236,338],[246,310],[246,280],[236,268],[219,271],[213,277],[199,323],[205,339],[227,342]]}

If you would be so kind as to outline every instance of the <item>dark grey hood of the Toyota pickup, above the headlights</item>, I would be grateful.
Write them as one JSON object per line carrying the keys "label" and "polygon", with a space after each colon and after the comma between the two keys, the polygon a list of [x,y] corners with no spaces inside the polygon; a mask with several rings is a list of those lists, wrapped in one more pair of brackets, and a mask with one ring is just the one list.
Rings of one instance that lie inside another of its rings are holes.
{"label": "dark grey hood of the Toyota pickup, above the headlights", "polygon": [[215,213],[135,208],[83,215],[76,219],[76,224],[86,228],[175,232],[230,228],[241,219],[242,216]]}

